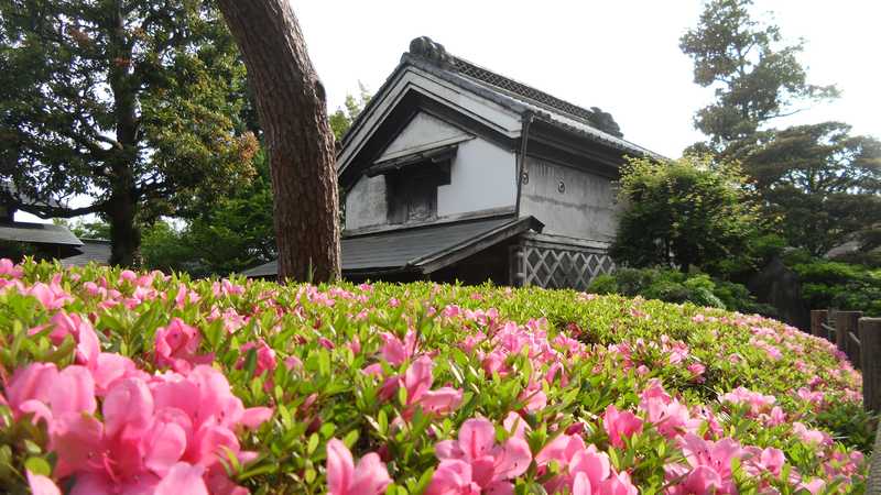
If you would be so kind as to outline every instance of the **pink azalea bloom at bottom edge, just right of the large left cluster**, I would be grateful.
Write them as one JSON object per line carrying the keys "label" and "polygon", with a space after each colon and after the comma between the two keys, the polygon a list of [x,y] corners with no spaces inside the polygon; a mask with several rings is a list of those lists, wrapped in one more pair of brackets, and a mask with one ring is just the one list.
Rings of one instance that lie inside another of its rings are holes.
{"label": "pink azalea bloom at bottom edge, just right of the large left cluster", "polygon": [[379,454],[370,452],[358,461],[341,441],[327,442],[327,493],[329,495],[379,495],[391,483]]}

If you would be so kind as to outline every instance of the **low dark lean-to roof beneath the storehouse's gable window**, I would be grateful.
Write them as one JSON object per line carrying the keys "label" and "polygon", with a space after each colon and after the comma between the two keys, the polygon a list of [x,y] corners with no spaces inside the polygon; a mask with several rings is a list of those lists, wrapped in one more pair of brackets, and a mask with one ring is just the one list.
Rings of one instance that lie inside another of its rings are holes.
{"label": "low dark lean-to roof beneath the storehouse's gable window", "polygon": [[[427,274],[529,230],[541,231],[543,227],[534,217],[508,216],[342,238],[342,272],[344,275],[406,271]],[[278,273],[278,263],[273,261],[242,275],[268,277]]]}

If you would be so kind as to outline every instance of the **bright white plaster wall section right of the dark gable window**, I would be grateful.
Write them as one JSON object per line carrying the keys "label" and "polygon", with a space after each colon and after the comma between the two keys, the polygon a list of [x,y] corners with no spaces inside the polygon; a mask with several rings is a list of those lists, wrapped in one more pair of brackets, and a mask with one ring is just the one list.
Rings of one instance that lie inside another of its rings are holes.
{"label": "bright white plaster wall section right of the dark gable window", "polygon": [[437,216],[513,208],[515,174],[513,152],[480,138],[459,144],[450,167],[449,185],[437,188]]}

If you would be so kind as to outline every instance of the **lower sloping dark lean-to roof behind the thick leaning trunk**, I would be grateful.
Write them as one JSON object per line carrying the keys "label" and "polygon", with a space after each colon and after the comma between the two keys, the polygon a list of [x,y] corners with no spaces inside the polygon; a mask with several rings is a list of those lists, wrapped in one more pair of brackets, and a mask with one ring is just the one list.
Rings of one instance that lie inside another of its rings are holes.
{"label": "lower sloping dark lean-to roof behind the thick leaning trunk", "polygon": [[[344,238],[342,272],[415,270],[422,262],[434,261],[445,253],[464,249],[486,234],[519,223],[529,227],[532,222],[537,221],[532,217],[520,220],[496,217]],[[267,277],[275,276],[278,271],[278,263],[273,261],[242,274],[248,277]]]}

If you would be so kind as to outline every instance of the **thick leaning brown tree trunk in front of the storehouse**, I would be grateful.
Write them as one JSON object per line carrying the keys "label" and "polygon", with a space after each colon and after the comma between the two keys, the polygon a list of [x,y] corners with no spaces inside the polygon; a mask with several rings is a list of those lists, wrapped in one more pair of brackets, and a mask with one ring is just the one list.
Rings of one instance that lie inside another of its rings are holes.
{"label": "thick leaning brown tree trunk in front of the storehouse", "polygon": [[290,0],[220,0],[257,94],[272,175],[279,279],[339,277],[334,135]]}

